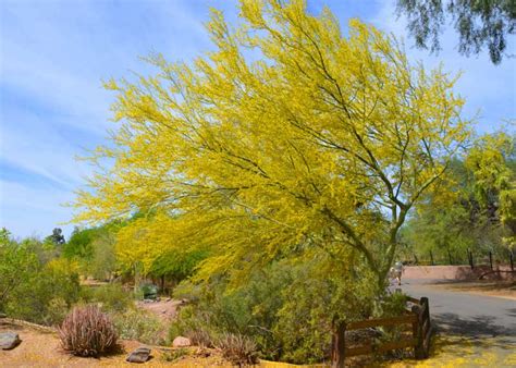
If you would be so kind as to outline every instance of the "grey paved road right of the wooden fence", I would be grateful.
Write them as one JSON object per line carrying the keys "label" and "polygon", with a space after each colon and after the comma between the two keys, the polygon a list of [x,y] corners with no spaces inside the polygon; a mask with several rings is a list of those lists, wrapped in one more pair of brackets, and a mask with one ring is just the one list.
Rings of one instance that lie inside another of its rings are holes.
{"label": "grey paved road right of the wooden fence", "polygon": [[429,298],[438,331],[499,338],[516,348],[516,300],[432,287],[429,280],[404,279],[402,290],[417,298]]}

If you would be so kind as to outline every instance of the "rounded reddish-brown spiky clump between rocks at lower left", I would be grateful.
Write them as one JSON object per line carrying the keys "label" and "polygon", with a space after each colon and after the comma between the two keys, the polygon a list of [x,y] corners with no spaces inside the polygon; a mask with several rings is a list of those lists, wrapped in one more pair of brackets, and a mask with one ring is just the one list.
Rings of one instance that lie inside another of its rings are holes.
{"label": "rounded reddish-brown spiky clump between rocks at lower left", "polygon": [[118,334],[113,322],[96,305],[75,307],[59,328],[63,348],[78,356],[113,352]]}

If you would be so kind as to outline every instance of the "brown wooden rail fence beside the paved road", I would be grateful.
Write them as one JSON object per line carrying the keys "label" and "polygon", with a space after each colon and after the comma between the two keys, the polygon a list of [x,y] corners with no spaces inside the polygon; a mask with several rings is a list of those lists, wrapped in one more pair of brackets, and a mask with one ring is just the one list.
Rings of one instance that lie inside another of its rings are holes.
{"label": "brown wooden rail fence beside the paved road", "polygon": [[[397,348],[413,347],[416,359],[428,358],[430,352],[430,342],[432,334],[432,326],[430,322],[430,308],[427,297],[419,300],[408,298],[413,303],[413,307],[407,311],[406,316],[369,319],[352,323],[340,323],[334,328],[332,339],[332,367],[344,367],[344,359],[356,355],[366,355],[373,353],[383,353]],[[373,344],[371,342],[354,347],[347,347],[345,332],[361,330],[374,327],[400,327],[408,330],[411,328],[411,336],[393,342],[382,344]]]}

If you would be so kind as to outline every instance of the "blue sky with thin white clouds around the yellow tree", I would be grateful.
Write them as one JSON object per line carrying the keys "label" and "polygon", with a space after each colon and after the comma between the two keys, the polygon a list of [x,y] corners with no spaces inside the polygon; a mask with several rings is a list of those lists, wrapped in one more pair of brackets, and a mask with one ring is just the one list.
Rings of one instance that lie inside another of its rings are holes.
{"label": "blue sky with thin white clouds around the yellow tree", "polygon": [[[101,81],[152,71],[138,57],[161,52],[192,60],[210,48],[202,23],[209,7],[236,20],[236,1],[214,0],[1,0],[0,1],[0,226],[15,236],[45,236],[54,226],[70,234],[73,199],[90,168],[75,160],[105,142],[113,95]],[[403,37],[413,61],[440,62],[463,71],[457,91],[465,115],[479,112],[478,131],[516,118],[516,59],[494,66],[486,54],[456,52],[453,30],[438,56],[414,49],[405,20],[390,0],[308,0],[309,10],[330,7],[343,27],[359,17]],[[509,52],[516,53],[514,39]]]}

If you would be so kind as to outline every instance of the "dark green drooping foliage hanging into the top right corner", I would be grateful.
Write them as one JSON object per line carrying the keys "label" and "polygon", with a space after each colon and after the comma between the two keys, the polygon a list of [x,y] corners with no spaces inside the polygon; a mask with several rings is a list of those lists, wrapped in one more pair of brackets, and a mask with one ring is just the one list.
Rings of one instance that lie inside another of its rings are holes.
{"label": "dark green drooping foliage hanging into the top right corner", "polygon": [[470,56],[488,48],[491,61],[499,64],[507,47],[507,37],[516,33],[514,0],[397,0],[397,14],[408,20],[416,46],[440,49],[440,34],[447,20],[458,33],[458,51]]}

